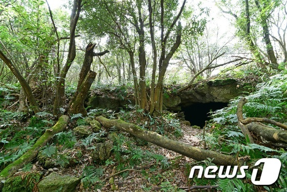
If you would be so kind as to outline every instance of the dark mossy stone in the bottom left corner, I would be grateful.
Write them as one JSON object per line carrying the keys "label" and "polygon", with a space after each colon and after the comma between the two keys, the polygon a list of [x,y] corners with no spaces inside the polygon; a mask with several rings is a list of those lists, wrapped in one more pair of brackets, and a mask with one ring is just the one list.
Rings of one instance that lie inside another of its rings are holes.
{"label": "dark mossy stone in the bottom left corner", "polygon": [[21,175],[10,177],[4,183],[3,192],[10,191],[32,191],[35,184],[40,181],[43,172],[23,172]]}

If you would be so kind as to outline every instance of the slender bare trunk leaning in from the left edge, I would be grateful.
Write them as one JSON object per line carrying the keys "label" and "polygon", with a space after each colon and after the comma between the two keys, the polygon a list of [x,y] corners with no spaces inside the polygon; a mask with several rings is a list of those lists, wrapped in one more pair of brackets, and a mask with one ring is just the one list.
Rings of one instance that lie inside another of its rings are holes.
{"label": "slender bare trunk leaning in from the left edge", "polygon": [[40,112],[39,105],[33,95],[32,89],[27,83],[27,81],[23,78],[21,73],[18,71],[16,66],[13,65],[13,63],[4,55],[4,53],[0,50],[0,58],[6,63],[6,65],[9,67],[11,72],[16,76],[17,80],[19,81],[21,87],[23,88],[25,95],[30,102],[30,106],[34,113]]}

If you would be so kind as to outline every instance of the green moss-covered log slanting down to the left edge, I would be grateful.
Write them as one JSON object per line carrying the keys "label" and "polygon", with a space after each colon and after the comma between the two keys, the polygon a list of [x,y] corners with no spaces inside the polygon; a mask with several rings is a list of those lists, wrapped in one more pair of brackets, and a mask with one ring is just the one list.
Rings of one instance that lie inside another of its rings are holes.
{"label": "green moss-covered log slanting down to the left edge", "polygon": [[[11,177],[15,172],[18,171],[19,168],[22,168],[25,164],[28,164],[34,158],[36,158],[38,150],[41,147],[45,146],[56,133],[63,131],[66,128],[68,121],[69,121],[68,116],[61,116],[58,119],[58,122],[51,129],[46,129],[45,133],[36,141],[36,143],[27,152],[24,153],[23,156],[21,156],[13,163],[9,164],[0,172],[0,180],[1,181],[6,180],[7,178]],[[1,191],[1,185],[0,185],[0,191]]]}

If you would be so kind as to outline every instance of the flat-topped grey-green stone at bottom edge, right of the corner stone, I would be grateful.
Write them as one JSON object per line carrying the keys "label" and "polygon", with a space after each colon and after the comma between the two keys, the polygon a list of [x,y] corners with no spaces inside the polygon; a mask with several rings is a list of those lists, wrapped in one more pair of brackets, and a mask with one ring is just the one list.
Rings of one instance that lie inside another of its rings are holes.
{"label": "flat-topped grey-green stone at bottom edge, right of the corner stone", "polygon": [[54,172],[45,177],[38,184],[39,192],[72,192],[76,191],[77,185],[80,183],[80,178],[70,175],[61,176]]}

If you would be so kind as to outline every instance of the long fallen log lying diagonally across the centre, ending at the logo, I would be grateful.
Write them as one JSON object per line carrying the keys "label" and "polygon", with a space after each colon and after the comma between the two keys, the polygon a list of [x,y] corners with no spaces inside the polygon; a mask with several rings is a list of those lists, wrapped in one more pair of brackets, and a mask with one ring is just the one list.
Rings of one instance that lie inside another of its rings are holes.
{"label": "long fallen log lying diagonally across the centre, ending at the logo", "polygon": [[[127,123],[120,119],[109,120],[104,117],[96,117],[96,120],[100,122],[104,127],[111,128],[113,126],[117,127],[121,131],[128,132],[133,136],[151,142],[160,147],[175,151],[183,156],[195,159],[197,161],[206,160],[207,158],[213,159],[213,163],[218,165],[237,165],[235,157],[223,155],[219,152],[204,150],[198,147],[193,147],[186,143],[179,141],[174,141],[159,135],[156,132],[148,131],[140,128],[131,123]],[[239,163],[241,164],[241,162]]]}

